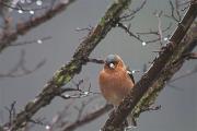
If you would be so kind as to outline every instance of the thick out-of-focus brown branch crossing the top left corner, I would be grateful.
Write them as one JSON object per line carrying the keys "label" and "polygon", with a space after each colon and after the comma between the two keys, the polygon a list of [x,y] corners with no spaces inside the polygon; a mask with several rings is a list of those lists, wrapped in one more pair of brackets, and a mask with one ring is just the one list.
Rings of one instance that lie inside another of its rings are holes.
{"label": "thick out-of-focus brown branch crossing the top left corner", "polygon": [[54,16],[65,11],[68,5],[73,3],[76,0],[67,0],[67,2],[60,2],[59,4],[51,7],[44,14],[31,17],[28,21],[19,22],[15,29],[4,28],[0,33],[0,52],[9,47],[13,41],[18,39],[18,36],[25,35],[32,28],[51,20]]}

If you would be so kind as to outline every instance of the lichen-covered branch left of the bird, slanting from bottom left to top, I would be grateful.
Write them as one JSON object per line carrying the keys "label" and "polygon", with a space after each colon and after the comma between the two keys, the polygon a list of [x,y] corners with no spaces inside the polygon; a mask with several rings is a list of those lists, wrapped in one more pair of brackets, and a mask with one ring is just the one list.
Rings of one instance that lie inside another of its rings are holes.
{"label": "lichen-covered branch left of the bird, slanting from bottom left to top", "polygon": [[25,122],[27,122],[40,108],[49,105],[55,96],[59,95],[59,90],[67,84],[76,74],[80,73],[82,64],[86,61],[89,55],[93,51],[96,45],[106,36],[106,34],[115,27],[117,20],[123,11],[129,5],[131,0],[116,0],[105,15],[101,19],[95,28],[89,33],[88,37],[77,48],[73,59],[62,66],[45,85],[40,94],[33,100],[28,102],[20,114],[18,114],[10,131],[16,131]]}

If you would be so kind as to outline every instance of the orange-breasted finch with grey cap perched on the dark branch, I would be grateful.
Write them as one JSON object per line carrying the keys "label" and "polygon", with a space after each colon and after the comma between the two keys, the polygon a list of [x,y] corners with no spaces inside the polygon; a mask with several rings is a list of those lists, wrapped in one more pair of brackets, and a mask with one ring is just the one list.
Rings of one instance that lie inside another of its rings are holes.
{"label": "orange-breasted finch with grey cap perched on the dark branch", "polygon": [[[132,73],[118,55],[108,55],[99,74],[100,90],[107,103],[115,108],[135,85]],[[127,117],[128,124],[137,127],[132,116]]]}

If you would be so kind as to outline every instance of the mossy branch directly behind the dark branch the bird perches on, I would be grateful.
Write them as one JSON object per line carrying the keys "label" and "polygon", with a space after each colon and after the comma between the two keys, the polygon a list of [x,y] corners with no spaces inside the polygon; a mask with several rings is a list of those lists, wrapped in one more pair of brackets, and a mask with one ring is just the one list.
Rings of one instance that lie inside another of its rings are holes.
{"label": "mossy branch directly behind the dark branch the bird perches on", "polygon": [[[194,24],[193,24],[194,25]],[[152,86],[146,92],[140,102],[135,107],[132,115],[137,118],[142,112],[141,109],[148,108],[155,102],[159,93],[164,88],[165,83],[172,79],[174,73],[176,73],[187,60],[184,57],[189,53],[197,46],[197,34],[194,32],[197,29],[197,25],[193,26],[192,29],[187,32],[184,41],[174,50],[171,60],[165,64],[164,69],[159,74],[159,78],[153,81]]]}

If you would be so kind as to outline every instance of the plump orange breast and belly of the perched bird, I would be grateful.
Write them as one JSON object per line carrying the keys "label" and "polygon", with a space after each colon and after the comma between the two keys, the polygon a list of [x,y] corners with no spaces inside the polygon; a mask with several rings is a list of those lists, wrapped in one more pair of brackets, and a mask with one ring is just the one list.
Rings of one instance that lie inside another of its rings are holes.
{"label": "plump orange breast and belly of the perched bird", "polygon": [[126,70],[100,72],[100,88],[105,99],[113,105],[119,105],[123,98],[134,86]]}

